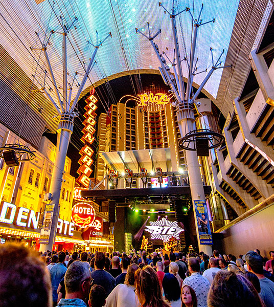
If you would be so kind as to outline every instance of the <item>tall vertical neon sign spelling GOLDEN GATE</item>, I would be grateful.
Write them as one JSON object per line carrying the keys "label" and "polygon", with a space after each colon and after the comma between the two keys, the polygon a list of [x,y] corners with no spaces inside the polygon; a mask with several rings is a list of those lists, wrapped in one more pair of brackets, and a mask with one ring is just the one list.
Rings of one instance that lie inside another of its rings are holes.
{"label": "tall vertical neon sign spelling GOLDEN GATE", "polygon": [[82,130],[82,133],[84,134],[81,138],[81,141],[85,144],[84,147],[80,150],[80,155],[82,156],[81,159],[78,161],[81,166],[78,168],[77,173],[80,175],[76,182],[81,187],[87,188],[89,185],[89,177],[92,173],[92,164],[93,164],[93,153],[94,150],[90,148],[90,145],[95,140],[94,133],[95,133],[95,117],[96,113],[95,110],[97,109],[96,103],[98,99],[94,95],[90,95],[86,99],[86,106],[85,106],[85,114],[84,114],[84,122],[83,124],[85,127]]}

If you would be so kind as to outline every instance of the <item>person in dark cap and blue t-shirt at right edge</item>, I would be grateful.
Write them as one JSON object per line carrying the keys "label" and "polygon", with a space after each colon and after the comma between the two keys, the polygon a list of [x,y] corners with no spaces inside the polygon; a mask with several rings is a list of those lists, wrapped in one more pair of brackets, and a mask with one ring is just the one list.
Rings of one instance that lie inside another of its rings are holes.
{"label": "person in dark cap and blue t-shirt at right edge", "polygon": [[243,256],[243,260],[246,261],[247,270],[254,273],[259,278],[261,286],[259,295],[264,301],[265,306],[274,307],[274,282],[263,275],[262,257],[254,251],[248,251]]}

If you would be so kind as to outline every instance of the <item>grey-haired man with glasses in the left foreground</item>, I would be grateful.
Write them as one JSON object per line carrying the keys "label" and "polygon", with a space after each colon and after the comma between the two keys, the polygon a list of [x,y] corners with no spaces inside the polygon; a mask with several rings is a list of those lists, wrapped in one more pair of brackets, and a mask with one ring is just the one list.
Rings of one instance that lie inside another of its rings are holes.
{"label": "grey-haired man with glasses in the left foreground", "polygon": [[92,278],[87,262],[74,261],[65,273],[65,298],[61,298],[58,307],[86,307]]}

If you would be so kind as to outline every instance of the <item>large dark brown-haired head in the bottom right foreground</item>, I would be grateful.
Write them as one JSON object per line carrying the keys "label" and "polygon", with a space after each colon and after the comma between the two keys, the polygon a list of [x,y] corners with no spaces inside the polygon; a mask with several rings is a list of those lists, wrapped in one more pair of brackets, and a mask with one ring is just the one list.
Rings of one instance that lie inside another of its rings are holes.
{"label": "large dark brown-haired head in the bottom right foreground", "polygon": [[245,277],[229,271],[216,274],[208,294],[208,307],[263,306],[258,292]]}

